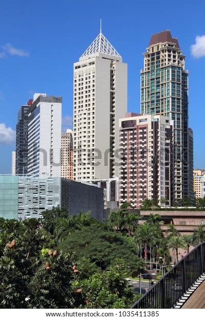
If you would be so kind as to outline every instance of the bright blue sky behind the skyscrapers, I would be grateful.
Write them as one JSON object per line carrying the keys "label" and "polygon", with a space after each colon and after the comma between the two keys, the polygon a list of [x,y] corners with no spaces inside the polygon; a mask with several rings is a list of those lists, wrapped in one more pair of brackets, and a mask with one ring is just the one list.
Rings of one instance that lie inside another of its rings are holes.
{"label": "bright blue sky behind the skyscrapers", "polygon": [[11,172],[17,112],[33,93],[63,96],[64,128],[71,123],[73,63],[99,33],[100,17],[104,35],[128,63],[128,111],[140,110],[142,52],[151,34],[170,29],[178,38],[189,69],[194,166],[205,167],[204,12],[202,0],[173,0],[171,4],[161,0],[1,2],[0,173]]}

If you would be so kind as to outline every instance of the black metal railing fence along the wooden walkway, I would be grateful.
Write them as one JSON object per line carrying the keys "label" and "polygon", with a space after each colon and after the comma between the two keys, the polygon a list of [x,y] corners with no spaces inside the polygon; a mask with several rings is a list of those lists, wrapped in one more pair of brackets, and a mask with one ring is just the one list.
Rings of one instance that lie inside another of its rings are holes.
{"label": "black metal railing fence along the wooden walkway", "polygon": [[170,309],[204,272],[205,242],[177,262],[132,308]]}

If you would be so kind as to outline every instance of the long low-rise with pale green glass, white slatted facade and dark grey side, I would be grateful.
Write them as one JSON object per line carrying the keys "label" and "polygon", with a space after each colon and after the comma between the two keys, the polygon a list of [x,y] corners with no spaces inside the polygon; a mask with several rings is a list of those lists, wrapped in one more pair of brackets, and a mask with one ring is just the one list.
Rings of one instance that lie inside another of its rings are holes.
{"label": "long low-rise with pale green glass, white slatted facade and dark grey side", "polygon": [[70,215],[91,211],[103,221],[104,191],[64,178],[0,175],[0,217],[39,218],[42,211],[57,206],[67,207]]}

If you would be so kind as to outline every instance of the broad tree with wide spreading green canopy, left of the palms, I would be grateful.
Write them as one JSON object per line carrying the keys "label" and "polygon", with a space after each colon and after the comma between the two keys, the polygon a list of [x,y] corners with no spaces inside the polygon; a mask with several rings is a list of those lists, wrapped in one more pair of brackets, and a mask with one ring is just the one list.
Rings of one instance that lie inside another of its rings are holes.
{"label": "broad tree with wide spreading green canopy, left of the palms", "polygon": [[89,258],[103,270],[109,269],[116,258],[122,258],[130,265],[130,273],[144,266],[143,260],[136,256],[135,244],[128,237],[102,229],[100,223],[74,231],[72,236],[59,243],[58,248],[75,252],[77,260]]}

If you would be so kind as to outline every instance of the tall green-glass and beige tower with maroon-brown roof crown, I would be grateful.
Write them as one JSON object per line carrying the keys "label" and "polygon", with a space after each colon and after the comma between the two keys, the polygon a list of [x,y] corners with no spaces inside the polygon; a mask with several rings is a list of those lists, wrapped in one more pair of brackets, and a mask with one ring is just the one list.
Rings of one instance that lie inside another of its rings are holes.
{"label": "tall green-glass and beige tower with maroon-brown roof crown", "polygon": [[[189,153],[188,70],[178,40],[170,31],[153,34],[141,70],[141,113],[174,121],[174,199],[193,199],[193,154]],[[193,152],[192,152],[193,153]]]}

